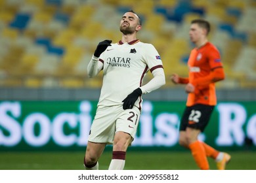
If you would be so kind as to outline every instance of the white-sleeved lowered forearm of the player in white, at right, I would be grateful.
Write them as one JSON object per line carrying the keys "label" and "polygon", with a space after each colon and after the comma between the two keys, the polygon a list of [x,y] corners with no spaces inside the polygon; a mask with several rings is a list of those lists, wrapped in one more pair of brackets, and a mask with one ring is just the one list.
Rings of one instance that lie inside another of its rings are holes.
{"label": "white-sleeved lowered forearm of the player in white, at right", "polygon": [[140,87],[143,94],[150,93],[165,84],[165,74],[163,72],[163,69],[159,68],[154,70],[152,72],[152,75],[154,76],[154,78],[152,78],[152,80],[150,80],[150,82],[148,82],[144,86]]}

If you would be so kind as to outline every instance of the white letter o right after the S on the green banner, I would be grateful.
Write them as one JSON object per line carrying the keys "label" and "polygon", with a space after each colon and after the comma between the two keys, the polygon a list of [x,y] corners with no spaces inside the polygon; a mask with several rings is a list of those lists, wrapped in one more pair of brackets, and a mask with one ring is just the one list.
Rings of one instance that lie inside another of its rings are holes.
{"label": "white letter o right after the S on the green banner", "polygon": [[[39,135],[35,135],[35,124],[39,124]],[[32,146],[43,146],[51,138],[51,122],[45,114],[36,112],[27,116],[23,124],[24,140]]]}

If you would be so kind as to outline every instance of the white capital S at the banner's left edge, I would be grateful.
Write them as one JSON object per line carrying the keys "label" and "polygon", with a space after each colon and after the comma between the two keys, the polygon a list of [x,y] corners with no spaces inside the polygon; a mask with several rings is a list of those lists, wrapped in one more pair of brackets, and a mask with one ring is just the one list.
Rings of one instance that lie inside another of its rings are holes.
{"label": "white capital S at the banner's left edge", "polygon": [[[2,102],[0,103],[0,146],[15,146],[22,139],[20,124],[14,118],[20,116],[20,103]],[[9,135],[3,134],[1,129],[8,131]]]}

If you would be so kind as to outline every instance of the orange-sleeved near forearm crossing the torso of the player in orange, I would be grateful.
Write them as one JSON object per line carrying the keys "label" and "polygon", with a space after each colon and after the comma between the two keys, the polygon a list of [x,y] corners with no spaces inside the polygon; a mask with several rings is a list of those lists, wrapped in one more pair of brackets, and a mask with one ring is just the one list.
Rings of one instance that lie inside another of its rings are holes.
{"label": "orange-sleeved near forearm crossing the torso of the player in orange", "polygon": [[194,86],[202,86],[207,85],[213,82],[218,82],[220,80],[224,80],[224,70],[222,67],[218,69],[214,69],[209,75],[204,76],[202,78],[197,78],[192,82]]}

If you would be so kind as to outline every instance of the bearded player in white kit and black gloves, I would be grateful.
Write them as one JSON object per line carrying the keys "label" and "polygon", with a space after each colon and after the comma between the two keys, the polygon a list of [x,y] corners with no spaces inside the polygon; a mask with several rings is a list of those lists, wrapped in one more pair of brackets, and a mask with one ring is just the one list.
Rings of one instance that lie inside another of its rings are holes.
{"label": "bearded player in white kit and black gloves", "polygon": [[[137,39],[141,27],[140,17],[133,10],[125,12],[119,25],[121,41],[99,42],[87,67],[89,77],[103,71],[103,83],[85,151],[85,169],[98,169],[98,159],[106,144],[113,144],[108,169],[124,169],[125,154],[139,124],[142,94],[165,84],[156,48]],[[148,71],[153,78],[143,85]]]}

